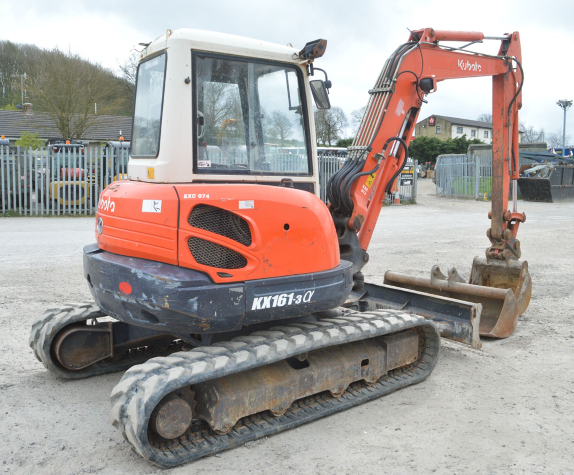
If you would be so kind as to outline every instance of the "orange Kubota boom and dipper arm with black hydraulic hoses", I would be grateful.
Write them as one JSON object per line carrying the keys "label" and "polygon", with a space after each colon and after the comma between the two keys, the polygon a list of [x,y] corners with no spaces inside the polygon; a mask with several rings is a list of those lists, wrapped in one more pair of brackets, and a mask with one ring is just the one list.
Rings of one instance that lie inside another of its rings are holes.
{"label": "orange Kubota boom and dipper arm with black hydraulic hoses", "polygon": [[[482,42],[483,38],[501,40],[497,55],[467,52],[464,48],[468,45],[455,48],[439,44]],[[492,246],[487,254],[492,258],[519,258],[515,238],[525,216],[516,212],[515,203],[513,212],[507,208],[510,180],[518,179],[518,109],[522,106],[523,81],[520,61],[517,32],[493,38],[478,32],[426,28],[412,32],[409,40],[395,50],[369,91],[369,103],[347,162],[327,185],[340,240],[343,236],[342,251],[345,244],[353,247],[355,239],[349,231],[355,231],[360,250],[354,252],[363,252],[362,261],[367,262],[364,251],[385,195],[406,162],[418,113],[426,102],[424,96],[436,92],[437,84],[445,79],[492,76],[492,227],[488,231]],[[355,271],[360,267],[356,266]]]}

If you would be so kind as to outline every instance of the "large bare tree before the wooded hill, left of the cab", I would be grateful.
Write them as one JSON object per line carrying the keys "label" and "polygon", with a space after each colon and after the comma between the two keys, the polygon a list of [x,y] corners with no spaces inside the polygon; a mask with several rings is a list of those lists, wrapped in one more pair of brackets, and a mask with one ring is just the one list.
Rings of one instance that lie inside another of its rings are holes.
{"label": "large bare tree before the wooded hill, left of the cab", "polygon": [[40,108],[48,112],[64,138],[82,138],[99,114],[112,114],[122,107],[117,78],[99,64],[79,54],[54,49],[38,66],[31,89]]}

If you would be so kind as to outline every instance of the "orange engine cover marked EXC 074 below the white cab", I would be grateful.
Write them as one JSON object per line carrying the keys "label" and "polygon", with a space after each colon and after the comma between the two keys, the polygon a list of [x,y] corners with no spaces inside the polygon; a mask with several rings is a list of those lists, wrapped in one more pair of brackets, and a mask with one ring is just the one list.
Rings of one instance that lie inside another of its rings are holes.
{"label": "orange engine cover marked EXC 074 below the white cab", "polygon": [[218,283],[340,263],[327,207],[314,194],[281,186],[118,181],[102,192],[97,223],[102,250],[192,268]]}

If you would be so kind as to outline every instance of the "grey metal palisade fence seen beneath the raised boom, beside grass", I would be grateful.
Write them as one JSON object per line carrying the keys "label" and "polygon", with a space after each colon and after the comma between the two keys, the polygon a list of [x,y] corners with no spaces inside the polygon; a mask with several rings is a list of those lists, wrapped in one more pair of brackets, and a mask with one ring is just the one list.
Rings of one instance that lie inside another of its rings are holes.
{"label": "grey metal palisade fence seen beneath the raised boom, beside grass", "polygon": [[[532,163],[519,158],[519,165]],[[490,199],[492,193],[492,154],[447,154],[436,159],[433,181],[436,196],[445,198]],[[509,197],[513,182],[510,182]],[[519,190],[518,190],[519,193]]]}

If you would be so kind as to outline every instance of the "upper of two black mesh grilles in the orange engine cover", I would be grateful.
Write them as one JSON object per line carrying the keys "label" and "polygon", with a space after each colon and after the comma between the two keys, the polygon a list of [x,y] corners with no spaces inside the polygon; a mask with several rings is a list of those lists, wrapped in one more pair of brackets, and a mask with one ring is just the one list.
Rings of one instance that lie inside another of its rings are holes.
{"label": "upper of two black mesh grilles in the orange engine cover", "polygon": [[226,209],[199,204],[192,209],[187,221],[194,228],[225,236],[243,246],[251,244],[251,231],[247,221]]}

